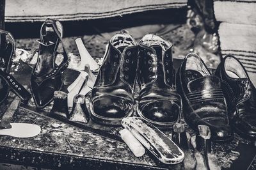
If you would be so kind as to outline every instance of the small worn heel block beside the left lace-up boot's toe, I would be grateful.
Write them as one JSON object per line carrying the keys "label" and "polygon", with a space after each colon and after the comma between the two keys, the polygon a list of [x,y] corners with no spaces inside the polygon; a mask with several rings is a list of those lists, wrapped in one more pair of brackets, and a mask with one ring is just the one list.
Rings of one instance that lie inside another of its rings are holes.
{"label": "small worn heel block beside the left lace-up boot's toe", "polygon": [[74,97],[74,104],[72,111],[70,113],[71,121],[81,121],[83,123],[88,123],[90,120],[89,112],[86,109],[85,97],[84,95],[76,95]]}

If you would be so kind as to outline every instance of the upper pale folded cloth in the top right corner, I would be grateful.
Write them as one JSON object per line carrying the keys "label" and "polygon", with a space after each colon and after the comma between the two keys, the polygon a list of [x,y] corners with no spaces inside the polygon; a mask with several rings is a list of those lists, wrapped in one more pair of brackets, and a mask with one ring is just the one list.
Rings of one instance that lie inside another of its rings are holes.
{"label": "upper pale folded cloth in the top right corner", "polygon": [[214,0],[214,14],[221,22],[256,25],[256,0]]}

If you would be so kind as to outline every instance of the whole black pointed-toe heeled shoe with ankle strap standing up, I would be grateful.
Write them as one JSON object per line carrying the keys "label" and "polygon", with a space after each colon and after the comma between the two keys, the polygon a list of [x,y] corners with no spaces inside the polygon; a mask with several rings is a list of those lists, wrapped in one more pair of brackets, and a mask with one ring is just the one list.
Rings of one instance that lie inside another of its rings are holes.
{"label": "whole black pointed-toe heeled shoe with ankle strap standing up", "polygon": [[31,75],[31,91],[37,108],[44,108],[62,88],[61,72],[67,68],[68,56],[63,44],[63,61],[56,65],[57,49],[62,43],[63,27],[58,20],[47,19],[40,30],[38,59]]}

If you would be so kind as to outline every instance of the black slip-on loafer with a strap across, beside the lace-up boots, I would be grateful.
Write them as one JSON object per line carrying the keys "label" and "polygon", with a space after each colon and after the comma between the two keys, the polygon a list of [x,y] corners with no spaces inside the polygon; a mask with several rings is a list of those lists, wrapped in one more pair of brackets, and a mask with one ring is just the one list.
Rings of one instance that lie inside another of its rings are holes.
{"label": "black slip-on loafer with a strap across, beside the lace-up boots", "polygon": [[189,53],[177,73],[177,89],[182,96],[184,119],[198,132],[198,125],[211,129],[212,141],[224,142],[233,137],[221,81],[211,75],[204,61]]}

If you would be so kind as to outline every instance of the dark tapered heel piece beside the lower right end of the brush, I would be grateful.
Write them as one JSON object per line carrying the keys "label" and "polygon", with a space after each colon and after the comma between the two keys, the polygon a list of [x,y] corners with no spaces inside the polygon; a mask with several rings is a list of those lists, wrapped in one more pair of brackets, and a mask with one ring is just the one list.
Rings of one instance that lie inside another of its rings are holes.
{"label": "dark tapered heel piece beside the lower right end of the brush", "polygon": [[193,152],[190,150],[184,124],[175,123],[175,125],[173,125],[172,141],[176,143],[184,152],[185,156],[182,162],[184,169],[195,169],[196,158]]}

